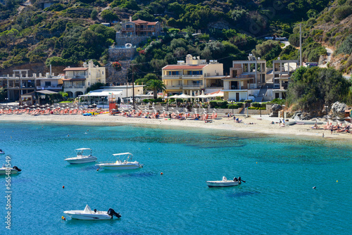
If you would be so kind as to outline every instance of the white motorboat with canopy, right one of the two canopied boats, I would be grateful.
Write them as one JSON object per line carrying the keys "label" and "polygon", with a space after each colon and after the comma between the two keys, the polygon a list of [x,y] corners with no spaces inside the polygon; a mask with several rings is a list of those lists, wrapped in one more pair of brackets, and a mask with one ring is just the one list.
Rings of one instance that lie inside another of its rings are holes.
{"label": "white motorboat with canopy, right one of the two canopied boats", "polygon": [[103,162],[96,164],[96,166],[101,167],[105,170],[132,170],[137,168],[142,168],[143,164],[139,162],[132,162],[132,153],[115,153],[113,154],[118,158],[115,162]]}

